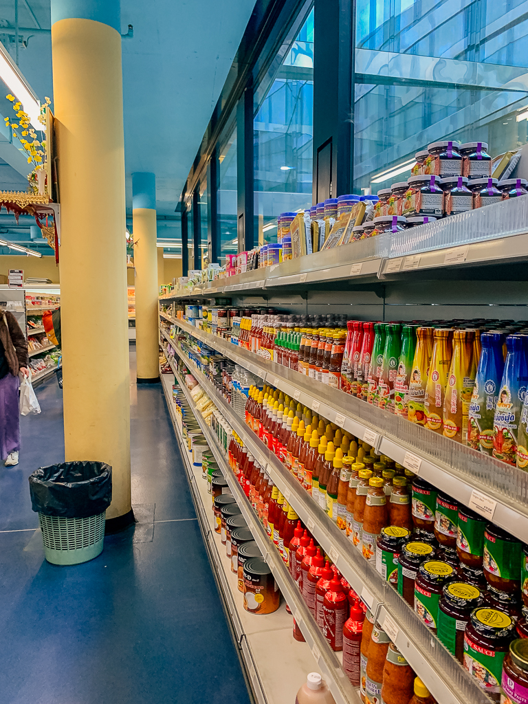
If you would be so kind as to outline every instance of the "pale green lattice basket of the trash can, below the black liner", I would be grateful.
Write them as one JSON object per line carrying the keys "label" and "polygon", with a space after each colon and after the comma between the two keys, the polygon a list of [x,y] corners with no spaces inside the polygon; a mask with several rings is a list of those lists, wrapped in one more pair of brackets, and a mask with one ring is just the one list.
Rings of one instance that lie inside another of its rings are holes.
{"label": "pale green lattice basket of the trash can, below the black liner", "polygon": [[44,555],[53,565],[78,565],[103,550],[106,511],[87,518],[65,518],[39,513]]}

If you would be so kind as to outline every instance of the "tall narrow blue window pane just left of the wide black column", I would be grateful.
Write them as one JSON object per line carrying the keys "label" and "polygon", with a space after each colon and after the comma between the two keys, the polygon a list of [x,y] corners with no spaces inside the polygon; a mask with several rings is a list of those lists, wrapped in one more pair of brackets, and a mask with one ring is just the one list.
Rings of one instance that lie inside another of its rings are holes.
{"label": "tall narrow blue window pane just left of the wide black column", "polygon": [[273,79],[263,99],[256,94],[253,122],[255,232],[264,242],[276,241],[280,213],[312,204],[313,10]]}

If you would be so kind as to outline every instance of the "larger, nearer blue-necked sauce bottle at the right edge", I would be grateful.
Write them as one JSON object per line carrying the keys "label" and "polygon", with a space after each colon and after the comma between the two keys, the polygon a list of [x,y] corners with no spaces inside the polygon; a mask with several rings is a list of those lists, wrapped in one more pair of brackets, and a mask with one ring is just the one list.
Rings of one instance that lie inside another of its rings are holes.
{"label": "larger, nearer blue-necked sauce bottle at the right edge", "polygon": [[517,433],[528,384],[527,338],[508,335],[508,354],[494,416],[493,456],[508,465],[517,463]]}

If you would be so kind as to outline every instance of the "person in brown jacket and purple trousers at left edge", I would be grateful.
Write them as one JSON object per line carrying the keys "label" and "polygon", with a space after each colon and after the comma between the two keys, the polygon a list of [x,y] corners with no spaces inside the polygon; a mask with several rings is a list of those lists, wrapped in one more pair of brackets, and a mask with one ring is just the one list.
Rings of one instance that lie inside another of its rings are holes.
{"label": "person in brown jacket and purple trousers at left edge", "polygon": [[13,313],[0,311],[0,459],[6,467],[18,465],[20,451],[18,372],[30,373],[27,341]]}

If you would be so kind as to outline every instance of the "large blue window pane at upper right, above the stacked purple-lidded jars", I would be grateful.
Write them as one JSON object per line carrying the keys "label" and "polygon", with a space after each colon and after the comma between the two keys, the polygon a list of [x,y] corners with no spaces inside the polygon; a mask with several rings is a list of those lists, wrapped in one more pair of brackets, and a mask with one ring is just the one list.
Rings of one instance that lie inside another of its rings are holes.
{"label": "large blue window pane at upper right, above the stacked purple-lidded jars", "polygon": [[406,180],[440,139],[487,142],[491,156],[527,143],[527,1],[357,7],[356,192]]}

